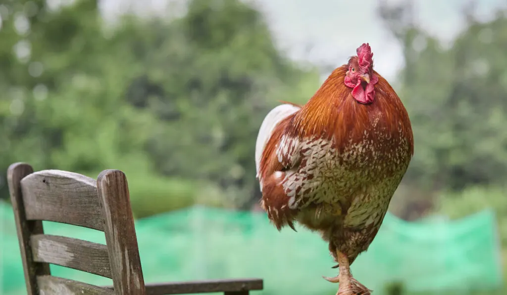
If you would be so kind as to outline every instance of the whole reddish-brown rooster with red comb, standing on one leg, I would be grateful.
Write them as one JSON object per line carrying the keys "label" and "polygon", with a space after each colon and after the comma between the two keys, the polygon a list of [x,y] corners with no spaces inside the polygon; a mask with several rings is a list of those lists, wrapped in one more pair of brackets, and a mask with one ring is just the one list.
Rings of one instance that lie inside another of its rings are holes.
{"label": "whole reddish-brown rooster with red comb, standing on one leg", "polygon": [[370,294],[350,265],[368,249],[414,151],[410,119],[373,69],[369,44],[336,68],[305,105],[264,118],[256,142],[261,207],[281,230],[320,233],[339,268],[340,295]]}

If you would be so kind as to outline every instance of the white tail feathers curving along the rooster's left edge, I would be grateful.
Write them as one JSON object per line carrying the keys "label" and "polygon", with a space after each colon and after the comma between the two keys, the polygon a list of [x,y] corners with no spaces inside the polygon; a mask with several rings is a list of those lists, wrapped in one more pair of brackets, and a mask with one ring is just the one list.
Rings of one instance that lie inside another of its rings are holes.
{"label": "white tail feathers curving along the rooster's left edge", "polygon": [[[297,112],[300,107],[291,104],[282,104],[272,109],[264,118],[257,135],[257,142],[255,145],[255,165],[257,177],[259,177],[259,165],[261,164],[261,156],[266,143],[268,142],[273,129],[276,127],[278,122],[286,118],[287,116]],[[262,180],[259,180],[262,189]]]}

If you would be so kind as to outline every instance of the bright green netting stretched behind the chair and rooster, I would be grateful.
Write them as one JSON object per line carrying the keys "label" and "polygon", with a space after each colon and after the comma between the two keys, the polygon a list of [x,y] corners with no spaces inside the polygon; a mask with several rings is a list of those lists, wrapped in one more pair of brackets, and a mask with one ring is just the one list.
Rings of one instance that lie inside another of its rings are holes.
{"label": "bright green netting stretched behind the chair and rooster", "polygon": [[[2,294],[25,294],[13,215],[3,213]],[[102,233],[45,222],[45,231],[105,242]],[[336,270],[328,246],[298,227],[277,232],[262,213],[194,207],[136,222],[146,282],[261,277],[258,294],[335,294],[324,281]],[[485,210],[453,222],[407,223],[387,215],[370,249],[359,256],[352,272],[375,294],[389,282],[403,282],[410,291],[494,289],[501,286],[501,266],[494,215]],[[99,276],[52,266],[54,275],[94,284],[110,284]]]}

